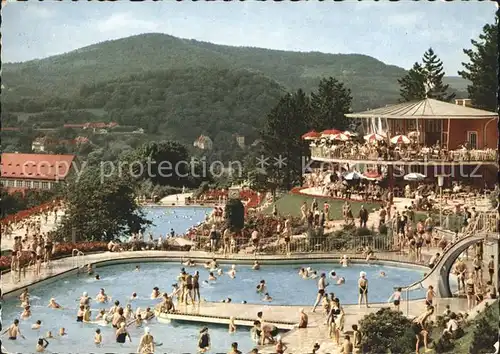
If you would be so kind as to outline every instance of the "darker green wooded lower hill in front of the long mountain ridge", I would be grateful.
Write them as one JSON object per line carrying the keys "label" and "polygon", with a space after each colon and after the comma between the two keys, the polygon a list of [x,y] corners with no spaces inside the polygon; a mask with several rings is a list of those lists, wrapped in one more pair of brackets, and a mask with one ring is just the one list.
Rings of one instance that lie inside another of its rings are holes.
{"label": "darker green wooded lower hill in front of the long mountain ridge", "polygon": [[[62,128],[65,123],[114,121],[135,126],[187,145],[206,134],[221,148],[244,134],[251,143],[263,119],[284,89],[269,78],[246,70],[193,68],[151,71],[83,85],[64,99],[7,102],[3,122]],[[37,106],[39,105],[39,106]],[[20,114],[19,112],[36,112]],[[105,112],[103,114],[103,112]]]}

